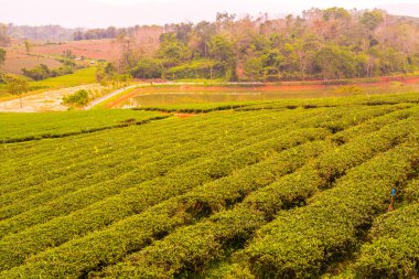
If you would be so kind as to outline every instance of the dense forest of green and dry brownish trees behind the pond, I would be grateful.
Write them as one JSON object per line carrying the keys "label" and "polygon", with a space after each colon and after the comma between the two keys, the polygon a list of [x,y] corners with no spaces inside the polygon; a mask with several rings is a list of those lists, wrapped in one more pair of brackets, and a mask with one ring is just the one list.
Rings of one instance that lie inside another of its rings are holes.
{"label": "dense forest of green and dry brownish trees behind the pond", "polygon": [[136,36],[119,39],[123,52],[116,66],[138,78],[276,82],[419,68],[417,19],[382,10],[311,9],[276,20],[218,13],[215,22],[162,26],[149,36],[151,50]]}

